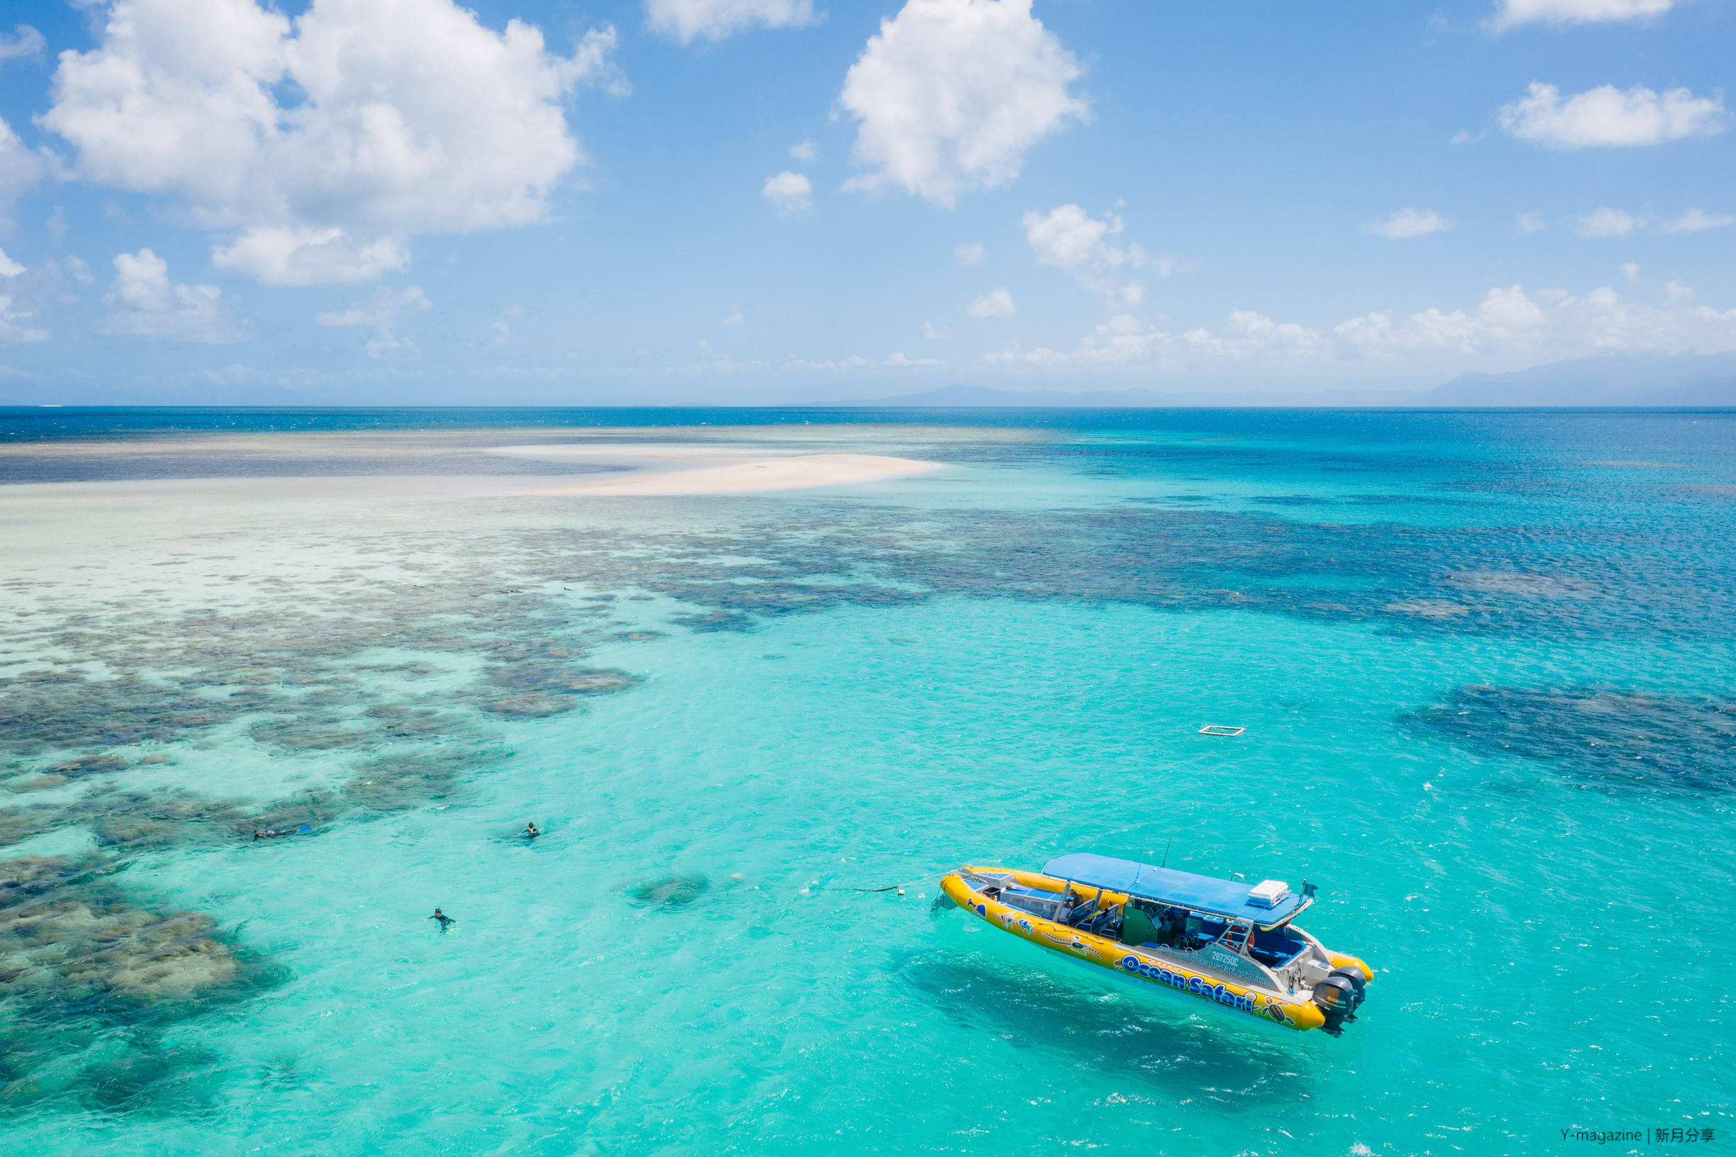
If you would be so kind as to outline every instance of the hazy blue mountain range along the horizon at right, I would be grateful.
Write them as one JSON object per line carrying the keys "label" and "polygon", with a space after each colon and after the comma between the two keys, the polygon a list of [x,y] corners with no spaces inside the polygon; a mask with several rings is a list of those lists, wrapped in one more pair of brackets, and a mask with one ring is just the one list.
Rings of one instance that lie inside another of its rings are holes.
{"label": "hazy blue mountain range along the horizon at right", "polygon": [[1205,391],[1153,389],[1088,391],[990,389],[941,386],[920,394],[894,394],[828,407],[1075,407],[1075,408],[1182,408],[1182,407],[1736,407],[1736,354],[1613,354],[1575,358],[1510,374],[1460,374],[1434,389],[1314,389],[1314,391]]}

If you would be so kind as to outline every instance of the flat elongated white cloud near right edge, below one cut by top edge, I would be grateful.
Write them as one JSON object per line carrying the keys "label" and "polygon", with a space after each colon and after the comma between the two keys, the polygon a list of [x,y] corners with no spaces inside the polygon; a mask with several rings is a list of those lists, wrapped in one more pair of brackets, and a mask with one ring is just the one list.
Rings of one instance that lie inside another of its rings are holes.
{"label": "flat elongated white cloud near right edge, below one cut by top edge", "polygon": [[1687,89],[1656,94],[1601,85],[1561,99],[1561,89],[1531,82],[1526,96],[1502,106],[1502,129],[1521,141],[1552,149],[1625,148],[1710,137],[1729,123],[1724,96],[1696,97]]}

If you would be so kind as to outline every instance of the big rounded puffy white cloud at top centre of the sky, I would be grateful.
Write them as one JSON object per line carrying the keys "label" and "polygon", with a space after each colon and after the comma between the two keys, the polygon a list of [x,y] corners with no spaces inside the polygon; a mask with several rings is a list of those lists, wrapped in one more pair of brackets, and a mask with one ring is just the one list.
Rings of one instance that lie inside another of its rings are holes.
{"label": "big rounded puffy white cloud at top centre of the sky", "polygon": [[1082,68],[1031,0],[908,0],[880,21],[838,102],[859,122],[847,189],[901,188],[951,208],[1019,175],[1024,155],[1087,104]]}

